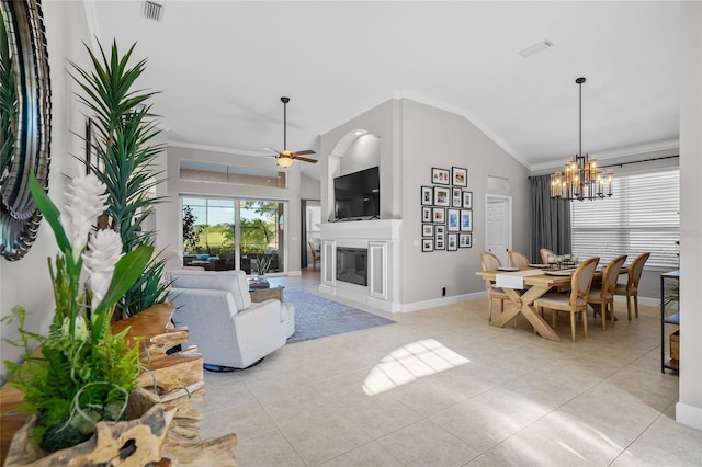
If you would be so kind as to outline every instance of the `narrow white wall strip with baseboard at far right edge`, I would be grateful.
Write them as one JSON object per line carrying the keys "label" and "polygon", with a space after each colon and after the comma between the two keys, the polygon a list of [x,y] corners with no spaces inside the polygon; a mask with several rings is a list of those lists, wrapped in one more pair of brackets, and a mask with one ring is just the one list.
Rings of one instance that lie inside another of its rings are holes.
{"label": "narrow white wall strip with baseboard at far right edge", "polygon": [[702,430],[702,3],[681,4],[680,395],[676,419]]}

